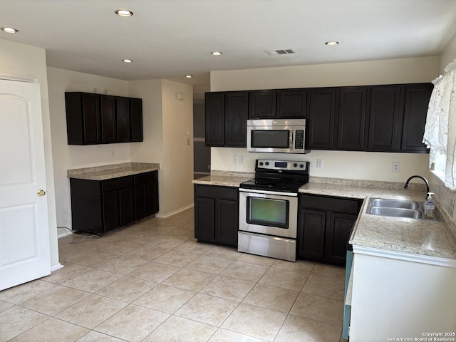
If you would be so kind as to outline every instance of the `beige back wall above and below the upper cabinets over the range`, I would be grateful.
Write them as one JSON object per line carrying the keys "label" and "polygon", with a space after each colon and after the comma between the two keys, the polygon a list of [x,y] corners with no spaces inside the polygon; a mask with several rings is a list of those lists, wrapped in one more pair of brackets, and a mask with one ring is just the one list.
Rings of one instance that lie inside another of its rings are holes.
{"label": "beige back wall above and below the upper cabinets over the range", "polygon": [[[430,82],[439,73],[439,63],[440,58],[432,56],[312,66],[212,71],[211,91]],[[234,164],[234,155],[244,155],[244,165]],[[211,166],[212,170],[252,172],[254,160],[264,157],[310,161],[311,175],[316,177],[405,182],[410,175],[418,174],[425,177],[429,175],[427,155],[408,153],[314,150],[306,155],[270,155],[248,153],[245,148],[212,147]],[[322,169],[315,167],[317,159],[323,159]],[[400,172],[391,172],[393,162],[400,162]]]}

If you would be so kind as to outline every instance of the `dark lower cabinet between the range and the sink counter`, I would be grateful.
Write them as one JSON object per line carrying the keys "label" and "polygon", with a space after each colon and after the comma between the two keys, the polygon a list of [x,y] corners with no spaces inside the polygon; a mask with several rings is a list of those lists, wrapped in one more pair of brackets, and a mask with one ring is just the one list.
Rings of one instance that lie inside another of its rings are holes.
{"label": "dark lower cabinet between the range and the sink counter", "polygon": [[361,204],[361,199],[301,195],[298,257],[345,265],[348,237]]}

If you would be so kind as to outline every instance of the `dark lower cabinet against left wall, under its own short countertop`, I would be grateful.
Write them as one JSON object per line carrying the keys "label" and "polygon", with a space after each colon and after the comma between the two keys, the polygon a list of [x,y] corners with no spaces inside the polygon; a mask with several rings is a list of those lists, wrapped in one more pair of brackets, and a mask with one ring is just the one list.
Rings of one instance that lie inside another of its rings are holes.
{"label": "dark lower cabinet against left wall, under its own short countertop", "polygon": [[158,212],[157,171],[110,180],[70,179],[74,231],[102,234]]}

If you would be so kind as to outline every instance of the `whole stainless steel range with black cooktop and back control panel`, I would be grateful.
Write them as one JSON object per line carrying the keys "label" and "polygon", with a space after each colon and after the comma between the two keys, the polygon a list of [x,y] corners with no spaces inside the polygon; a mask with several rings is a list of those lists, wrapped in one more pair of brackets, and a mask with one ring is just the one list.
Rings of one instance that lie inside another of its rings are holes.
{"label": "whole stainless steel range with black cooktop and back control panel", "polygon": [[309,162],[257,160],[255,178],[239,186],[238,251],[296,261],[298,190]]}

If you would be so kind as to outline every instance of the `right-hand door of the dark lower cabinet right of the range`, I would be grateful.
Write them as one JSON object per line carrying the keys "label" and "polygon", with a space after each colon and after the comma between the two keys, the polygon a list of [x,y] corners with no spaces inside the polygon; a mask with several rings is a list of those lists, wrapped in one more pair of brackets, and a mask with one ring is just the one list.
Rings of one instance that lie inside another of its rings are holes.
{"label": "right-hand door of the dark lower cabinet right of the range", "polygon": [[328,234],[326,234],[325,259],[331,264],[344,265],[347,242],[350,237],[356,215],[329,213]]}

